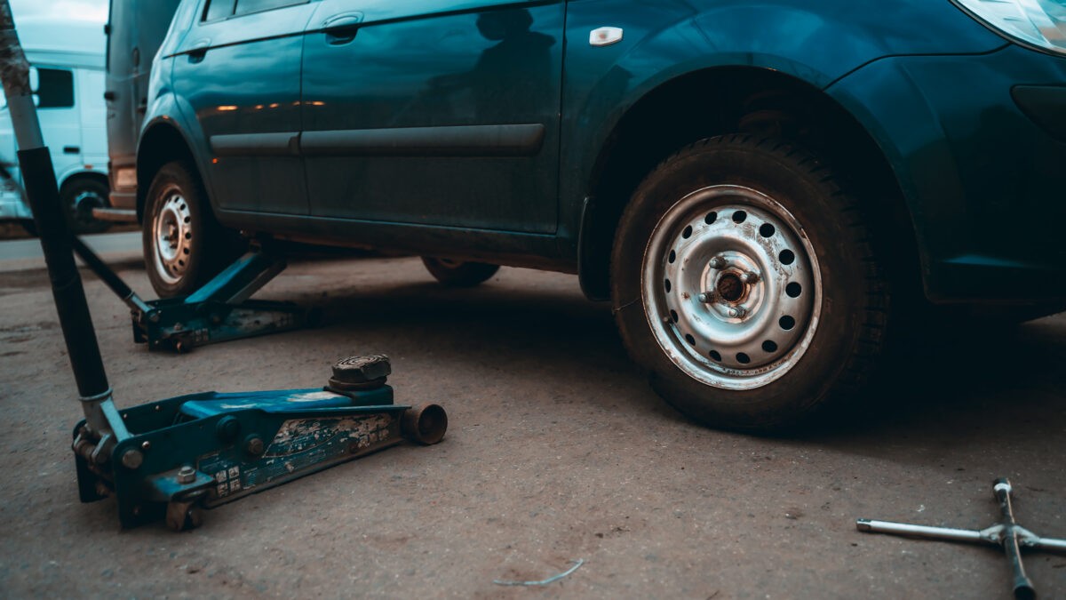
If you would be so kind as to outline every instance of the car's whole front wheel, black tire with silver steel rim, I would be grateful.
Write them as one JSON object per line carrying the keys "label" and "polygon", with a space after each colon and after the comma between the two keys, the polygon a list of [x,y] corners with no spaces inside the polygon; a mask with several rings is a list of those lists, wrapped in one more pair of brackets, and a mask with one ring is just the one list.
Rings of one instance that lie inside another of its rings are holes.
{"label": "car's whole front wheel, black tire with silver steel rim", "polygon": [[748,431],[795,426],[857,392],[889,306],[831,170],[744,135],[692,144],[641,184],[618,224],[611,291],[652,388],[700,423]]}

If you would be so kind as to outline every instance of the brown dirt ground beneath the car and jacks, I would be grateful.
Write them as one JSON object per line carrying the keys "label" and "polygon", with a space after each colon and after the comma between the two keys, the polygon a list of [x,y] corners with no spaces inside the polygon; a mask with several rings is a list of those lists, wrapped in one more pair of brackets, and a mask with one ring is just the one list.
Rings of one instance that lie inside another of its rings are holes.
{"label": "brown dirt ground beneath the car and jacks", "polygon": [[[126,309],[86,287],[120,407],[320,386],[337,359],[385,352],[397,401],[442,404],[448,437],[209,510],[189,533],[119,531],[113,500],[78,501],[80,408],[46,275],[0,273],[0,596],[1007,598],[995,548],[855,530],[987,526],[997,476],[1023,525],[1066,538],[1063,316],[915,348],[860,410],[768,439],[668,408],[569,275],[503,269],[453,290],[417,258],[296,264],[260,296],[322,306],[325,327],[184,356],[135,346]],[[579,559],[547,586],[494,583]],[[1043,597],[1066,596],[1066,556],[1027,567]]]}

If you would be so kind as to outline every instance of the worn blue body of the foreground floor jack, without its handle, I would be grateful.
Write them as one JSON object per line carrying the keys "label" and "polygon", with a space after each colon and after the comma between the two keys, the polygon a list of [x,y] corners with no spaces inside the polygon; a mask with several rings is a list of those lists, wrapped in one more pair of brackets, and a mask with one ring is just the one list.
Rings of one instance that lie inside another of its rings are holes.
{"label": "worn blue body of the foreground floor jack, without its handle", "polygon": [[115,495],[123,527],[166,519],[199,525],[213,508],[392,445],[439,442],[439,405],[392,402],[388,358],[353,357],[319,389],[206,392],[119,410],[129,437],[100,453],[85,421],[74,430],[82,502]]}

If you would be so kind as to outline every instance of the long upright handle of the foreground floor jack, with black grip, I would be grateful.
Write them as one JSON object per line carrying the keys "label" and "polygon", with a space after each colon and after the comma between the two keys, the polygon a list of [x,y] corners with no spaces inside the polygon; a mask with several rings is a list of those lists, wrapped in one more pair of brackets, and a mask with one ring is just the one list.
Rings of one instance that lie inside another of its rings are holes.
{"label": "long upright handle of the foreground floor jack, with black grip", "polygon": [[0,79],[7,97],[7,110],[19,148],[19,169],[39,232],[70,367],[86,421],[100,438],[94,458],[104,462],[110,453],[103,451],[128,437],[129,432],[122,419],[118,417],[117,422],[115,419],[117,413],[111,401],[111,386],[108,385],[81,275],[74,262],[72,236],[64,217],[51,156],[41,135],[37,109],[30,89],[30,65],[19,44],[7,0],[0,0]]}

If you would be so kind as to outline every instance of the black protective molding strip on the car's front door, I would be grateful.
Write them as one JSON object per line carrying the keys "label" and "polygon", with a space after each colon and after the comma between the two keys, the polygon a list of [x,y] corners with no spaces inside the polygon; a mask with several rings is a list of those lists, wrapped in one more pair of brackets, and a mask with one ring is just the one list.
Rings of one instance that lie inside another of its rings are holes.
{"label": "black protective molding strip on the car's front door", "polygon": [[311,156],[534,156],[544,145],[542,123],[304,131]]}

